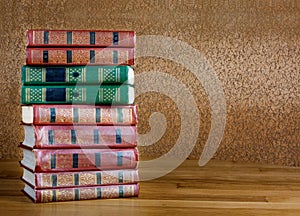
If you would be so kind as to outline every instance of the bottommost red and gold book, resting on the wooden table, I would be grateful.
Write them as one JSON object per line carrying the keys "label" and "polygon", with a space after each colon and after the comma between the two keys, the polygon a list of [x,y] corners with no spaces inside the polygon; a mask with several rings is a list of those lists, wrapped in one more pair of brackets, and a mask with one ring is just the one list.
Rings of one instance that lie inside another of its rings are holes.
{"label": "bottommost red and gold book, resting on the wooden table", "polygon": [[135,197],[139,184],[105,185],[56,189],[34,189],[25,184],[23,192],[36,203]]}

